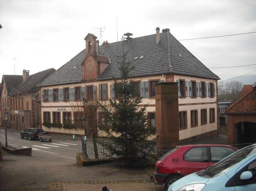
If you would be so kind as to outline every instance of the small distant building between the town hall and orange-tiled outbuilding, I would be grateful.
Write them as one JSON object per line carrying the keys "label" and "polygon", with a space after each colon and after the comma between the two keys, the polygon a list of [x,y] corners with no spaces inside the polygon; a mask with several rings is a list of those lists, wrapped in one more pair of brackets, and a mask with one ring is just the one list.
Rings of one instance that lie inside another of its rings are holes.
{"label": "small distant building between the town hall and orange-tiled outbuilding", "polygon": [[220,133],[227,135],[227,115],[225,114],[225,110],[227,106],[231,103],[232,100],[219,100],[218,101],[218,112],[219,112],[219,128]]}

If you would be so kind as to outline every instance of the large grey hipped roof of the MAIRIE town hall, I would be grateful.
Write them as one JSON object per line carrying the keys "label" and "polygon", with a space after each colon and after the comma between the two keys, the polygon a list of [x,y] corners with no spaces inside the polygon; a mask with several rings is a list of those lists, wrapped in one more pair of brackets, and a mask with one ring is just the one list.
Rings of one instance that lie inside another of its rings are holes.
{"label": "large grey hipped roof of the MAIRIE town hall", "polygon": [[[122,54],[122,41],[99,47],[99,55],[109,57],[111,64],[98,76],[97,80],[119,78],[117,56]],[[204,66],[169,32],[160,33],[160,42],[156,44],[156,34],[137,37],[124,42],[124,51],[129,51],[127,60],[135,65],[133,77],[162,74],[182,74],[219,80],[220,78]],[[180,57],[180,55],[181,57]],[[141,56],[144,56],[140,59]],[[138,59],[134,59],[139,57]],[[85,50],[60,67],[53,75],[39,84],[49,86],[82,81],[81,63],[85,59]],[[76,68],[74,68],[77,66]]]}

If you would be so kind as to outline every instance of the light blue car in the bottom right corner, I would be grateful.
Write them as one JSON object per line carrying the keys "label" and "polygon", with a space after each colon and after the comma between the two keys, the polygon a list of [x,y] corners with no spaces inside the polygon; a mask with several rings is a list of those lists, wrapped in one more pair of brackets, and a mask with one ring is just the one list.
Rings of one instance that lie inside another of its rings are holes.
{"label": "light blue car in the bottom right corner", "polygon": [[204,170],[187,175],[168,191],[256,191],[256,144]]}

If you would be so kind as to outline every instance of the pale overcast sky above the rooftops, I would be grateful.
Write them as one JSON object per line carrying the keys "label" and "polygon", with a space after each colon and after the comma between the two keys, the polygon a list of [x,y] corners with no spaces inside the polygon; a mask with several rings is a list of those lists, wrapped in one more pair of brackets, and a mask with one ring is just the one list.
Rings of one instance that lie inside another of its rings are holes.
{"label": "pale overcast sky above the rooftops", "polygon": [[[118,17],[118,36],[117,36]],[[0,78],[60,68],[85,49],[88,33],[102,42],[155,34],[176,39],[256,32],[255,0],[0,0]],[[256,64],[256,33],[180,41],[208,68]],[[14,63],[14,58],[15,63]],[[256,71],[256,65],[211,68],[222,80]],[[256,74],[256,72],[251,73]]]}

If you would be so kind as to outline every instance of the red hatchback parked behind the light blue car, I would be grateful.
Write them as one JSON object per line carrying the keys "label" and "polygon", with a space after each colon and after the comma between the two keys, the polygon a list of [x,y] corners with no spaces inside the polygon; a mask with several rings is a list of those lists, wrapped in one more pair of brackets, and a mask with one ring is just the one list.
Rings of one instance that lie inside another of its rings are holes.
{"label": "red hatchback parked behind the light blue car", "polygon": [[164,184],[165,190],[168,190],[176,180],[212,166],[236,151],[228,145],[176,146],[156,161],[151,180],[155,184]]}

